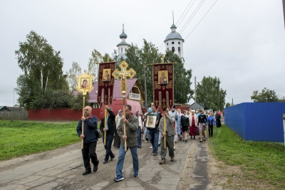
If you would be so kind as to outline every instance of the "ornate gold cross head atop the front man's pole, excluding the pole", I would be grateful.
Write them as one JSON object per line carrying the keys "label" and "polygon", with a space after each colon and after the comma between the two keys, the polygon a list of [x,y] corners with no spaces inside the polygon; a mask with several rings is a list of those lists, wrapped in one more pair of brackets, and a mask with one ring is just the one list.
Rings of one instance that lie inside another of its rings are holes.
{"label": "ornate gold cross head atop the front man's pole, excluding the pole", "polygon": [[125,90],[128,90],[128,86],[126,85],[125,80],[127,77],[133,78],[136,72],[135,70],[133,70],[133,68],[127,70],[128,63],[126,63],[125,60],[123,60],[122,63],[120,63],[119,67],[120,71],[118,69],[115,69],[112,75],[115,79],[118,79],[120,77],[121,79],[120,90],[122,91],[122,94],[125,95]]}

